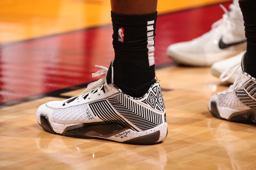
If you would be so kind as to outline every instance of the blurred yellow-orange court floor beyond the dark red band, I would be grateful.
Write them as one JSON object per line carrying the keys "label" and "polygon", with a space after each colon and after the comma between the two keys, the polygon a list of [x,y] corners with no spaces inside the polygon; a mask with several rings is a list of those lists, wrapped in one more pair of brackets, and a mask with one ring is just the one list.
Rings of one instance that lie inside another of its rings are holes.
{"label": "blurred yellow-orange court floor beyond the dark red band", "polygon": [[[225,1],[230,0],[159,0],[157,10],[164,14]],[[0,43],[110,24],[110,10],[110,0],[2,0]]]}

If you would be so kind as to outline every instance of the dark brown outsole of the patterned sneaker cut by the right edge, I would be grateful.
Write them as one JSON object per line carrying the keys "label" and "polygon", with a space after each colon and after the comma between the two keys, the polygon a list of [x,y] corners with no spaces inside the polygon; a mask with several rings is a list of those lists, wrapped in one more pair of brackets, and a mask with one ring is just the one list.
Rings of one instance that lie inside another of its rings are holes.
{"label": "dark brown outsole of the patterned sneaker cut by the right edge", "polygon": [[[218,111],[218,107],[216,102],[211,102],[211,109],[209,109],[210,112],[214,117],[217,117],[219,119],[223,119],[220,117],[220,113]],[[226,119],[224,119],[226,120]],[[256,111],[255,109],[249,109],[241,112],[233,113],[229,116],[227,119],[230,122],[238,122],[238,123],[246,123],[246,124],[253,124],[256,125]]]}

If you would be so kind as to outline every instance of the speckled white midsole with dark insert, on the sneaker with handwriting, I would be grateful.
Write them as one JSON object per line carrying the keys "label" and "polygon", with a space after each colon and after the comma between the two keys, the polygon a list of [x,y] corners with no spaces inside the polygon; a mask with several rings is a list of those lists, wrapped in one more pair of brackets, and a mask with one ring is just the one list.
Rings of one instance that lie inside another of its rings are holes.
{"label": "speckled white midsole with dark insert, on the sneaker with handwriting", "polygon": [[[66,128],[63,129],[63,124],[53,123],[50,119],[48,119],[48,121],[54,132],[62,134],[63,136],[70,137],[99,137],[118,142],[125,142],[136,137],[146,136],[159,131],[160,136],[157,141],[159,142],[164,140],[164,138],[167,136],[166,122],[145,131],[134,131],[130,129],[129,125],[125,124],[124,122],[94,122],[84,124],[65,124]],[[41,122],[38,123],[40,124]],[[57,129],[55,129],[54,127]]]}

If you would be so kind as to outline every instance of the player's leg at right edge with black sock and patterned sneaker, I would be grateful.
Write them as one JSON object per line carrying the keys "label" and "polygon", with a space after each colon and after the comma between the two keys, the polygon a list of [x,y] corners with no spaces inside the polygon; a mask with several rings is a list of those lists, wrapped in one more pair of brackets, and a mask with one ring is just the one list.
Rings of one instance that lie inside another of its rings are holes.
{"label": "player's leg at right edge with black sock and patterned sneaker", "polygon": [[[231,85],[227,90],[216,93],[214,96],[212,96],[208,107],[212,115],[218,118],[227,119],[234,122],[255,124],[256,1],[239,1],[239,5],[244,17],[245,36],[247,38],[247,51],[242,58],[243,71],[241,71],[234,84]],[[238,68],[241,68],[241,65],[238,64],[234,66],[234,69]]]}

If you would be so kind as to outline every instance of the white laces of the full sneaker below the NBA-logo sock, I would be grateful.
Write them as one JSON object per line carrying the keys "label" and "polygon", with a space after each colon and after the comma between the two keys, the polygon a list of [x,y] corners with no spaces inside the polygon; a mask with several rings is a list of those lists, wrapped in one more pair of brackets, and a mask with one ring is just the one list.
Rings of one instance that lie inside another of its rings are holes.
{"label": "white laces of the full sneaker below the NBA-logo sock", "polygon": [[[105,91],[107,91],[107,92],[111,90],[111,87],[108,85],[107,80],[106,80],[107,79],[108,68],[103,67],[103,66],[99,66],[99,65],[95,65],[95,67],[100,67],[101,70],[97,71],[96,73],[92,73],[92,77],[98,77],[98,76],[101,76],[103,74],[106,74],[106,76],[104,76],[103,78],[100,78],[99,80],[97,80],[95,82],[92,82],[89,85],[87,85],[87,88],[84,89],[84,91],[82,93],[80,93],[78,96],[75,96],[75,97],[77,97],[75,99],[75,100],[78,100],[77,102],[80,102],[84,98],[84,96],[86,96],[86,95],[88,95],[87,99],[90,99],[92,94],[95,93],[95,92],[97,92],[97,95],[100,95],[100,90],[102,88],[105,88]],[[75,97],[72,97],[72,98],[75,98]],[[70,98],[70,100],[72,98]],[[65,102],[65,105],[68,105],[68,104],[69,103]]]}

